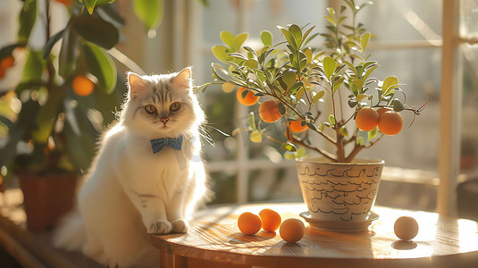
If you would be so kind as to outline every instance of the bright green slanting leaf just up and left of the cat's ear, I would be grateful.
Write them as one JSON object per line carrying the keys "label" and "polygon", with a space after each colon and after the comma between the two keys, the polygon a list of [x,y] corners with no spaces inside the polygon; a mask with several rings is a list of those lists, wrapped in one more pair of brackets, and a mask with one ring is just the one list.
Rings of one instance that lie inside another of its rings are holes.
{"label": "bright green slanting leaf just up and left of the cat's ear", "polygon": [[83,46],[83,52],[89,72],[96,76],[106,93],[112,93],[116,87],[117,71],[111,56],[103,48],[88,42]]}

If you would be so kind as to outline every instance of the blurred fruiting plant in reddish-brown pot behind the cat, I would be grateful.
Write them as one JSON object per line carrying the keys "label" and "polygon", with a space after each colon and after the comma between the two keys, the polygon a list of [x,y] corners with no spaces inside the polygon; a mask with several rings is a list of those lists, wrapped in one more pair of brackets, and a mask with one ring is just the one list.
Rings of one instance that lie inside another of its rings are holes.
{"label": "blurred fruiting plant in reddish-brown pot behind the cat", "polygon": [[[113,121],[126,90],[114,90],[124,82],[107,52],[118,43],[124,25],[117,5],[57,0],[70,17],[64,29],[53,33],[52,2],[22,1],[18,40],[0,49],[0,79],[15,58],[26,58],[21,80],[0,99],[0,128],[7,134],[0,167],[2,176],[20,179],[30,230],[53,227],[71,208],[78,175],[88,168],[96,137]],[[147,29],[154,29],[162,13],[149,2],[133,4]],[[154,3],[162,9],[159,0]],[[46,35],[39,49],[30,38],[35,24]],[[57,43],[59,50],[54,49]]]}

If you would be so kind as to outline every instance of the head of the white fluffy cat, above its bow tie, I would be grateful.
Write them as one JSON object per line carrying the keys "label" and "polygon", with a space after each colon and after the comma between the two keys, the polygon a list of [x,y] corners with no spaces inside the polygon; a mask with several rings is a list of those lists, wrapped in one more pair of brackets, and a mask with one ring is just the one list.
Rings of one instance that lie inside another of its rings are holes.
{"label": "head of the white fluffy cat, above its bow tie", "polygon": [[204,114],[192,93],[190,75],[189,68],[169,75],[129,73],[124,125],[149,138],[177,137],[197,128]]}

